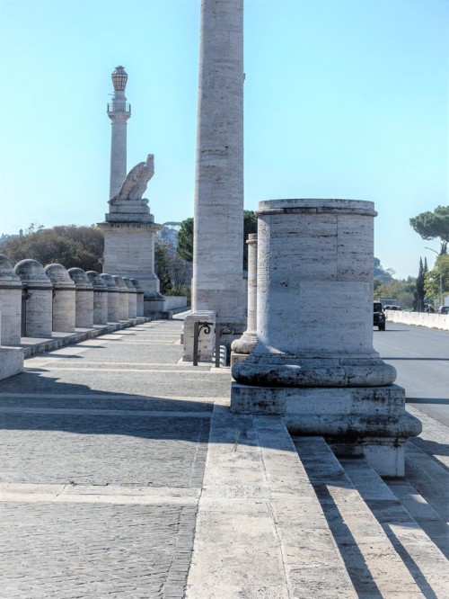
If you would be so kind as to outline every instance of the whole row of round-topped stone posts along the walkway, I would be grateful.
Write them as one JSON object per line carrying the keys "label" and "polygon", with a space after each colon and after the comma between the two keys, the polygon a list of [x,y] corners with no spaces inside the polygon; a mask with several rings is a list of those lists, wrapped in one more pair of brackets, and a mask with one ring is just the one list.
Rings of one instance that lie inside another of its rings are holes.
{"label": "whole row of round-topped stone posts along the walkway", "polygon": [[0,306],[0,344],[19,345],[23,336],[50,337],[142,317],[144,291],[136,279],[61,264],[44,268],[36,260],[13,266],[0,255]]}

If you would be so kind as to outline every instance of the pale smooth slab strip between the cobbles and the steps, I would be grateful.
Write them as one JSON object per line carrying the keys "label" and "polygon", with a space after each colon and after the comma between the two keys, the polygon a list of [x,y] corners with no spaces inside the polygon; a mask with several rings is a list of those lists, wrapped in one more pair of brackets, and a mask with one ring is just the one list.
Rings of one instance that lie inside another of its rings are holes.
{"label": "pale smooth slab strip between the cobbles and the steps", "polygon": [[186,597],[356,597],[282,419],[220,408]]}

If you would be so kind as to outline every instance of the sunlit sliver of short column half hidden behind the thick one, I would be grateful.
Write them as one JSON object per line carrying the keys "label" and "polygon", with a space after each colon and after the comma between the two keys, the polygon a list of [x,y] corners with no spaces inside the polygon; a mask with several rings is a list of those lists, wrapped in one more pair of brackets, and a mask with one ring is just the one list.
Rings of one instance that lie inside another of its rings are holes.
{"label": "sunlit sliver of short column half hidden behind the thick one", "polygon": [[257,235],[250,233],[248,246],[248,325],[240,339],[231,344],[231,367],[243,362],[257,342]]}

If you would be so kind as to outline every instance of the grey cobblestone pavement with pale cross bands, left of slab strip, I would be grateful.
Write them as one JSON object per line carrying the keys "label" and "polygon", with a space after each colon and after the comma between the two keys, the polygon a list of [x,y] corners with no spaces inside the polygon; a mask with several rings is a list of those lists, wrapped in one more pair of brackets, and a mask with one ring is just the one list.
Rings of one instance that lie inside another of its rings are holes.
{"label": "grey cobblestone pavement with pale cross bands, left of slab strip", "polygon": [[183,596],[229,371],[202,387],[179,338],[180,321],[151,322],[0,383],[2,599]]}

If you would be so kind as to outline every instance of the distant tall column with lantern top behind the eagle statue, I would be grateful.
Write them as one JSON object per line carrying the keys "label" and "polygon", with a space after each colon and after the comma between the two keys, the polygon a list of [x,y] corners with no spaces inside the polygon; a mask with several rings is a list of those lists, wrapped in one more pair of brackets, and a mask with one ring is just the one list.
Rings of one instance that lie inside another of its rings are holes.
{"label": "distant tall column with lantern top behind the eagle statue", "polygon": [[128,81],[125,69],[116,67],[111,77],[114,95],[108,103],[108,116],[111,121],[110,198],[113,198],[127,176],[127,121],[131,116],[131,105],[125,96]]}

